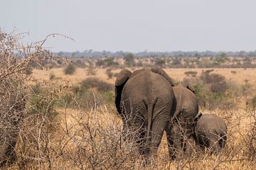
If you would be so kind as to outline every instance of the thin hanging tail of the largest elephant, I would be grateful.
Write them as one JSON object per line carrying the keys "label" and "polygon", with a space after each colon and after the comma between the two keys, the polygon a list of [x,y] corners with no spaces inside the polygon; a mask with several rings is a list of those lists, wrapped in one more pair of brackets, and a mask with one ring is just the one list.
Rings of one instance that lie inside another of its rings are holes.
{"label": "thin hanging tail of the largest elephant", "polygon": [[154,100],[154,102],[149,102],[144,100],[144,104],[146,106],[146,109],[148,111],[148,125],[147,125],[147,131],[146,131],[146,140],[149,140],[151,128],[152,128],[152,120],[153,120],[153,113],[154,113],[154,107],[156,106],[157,98]]}

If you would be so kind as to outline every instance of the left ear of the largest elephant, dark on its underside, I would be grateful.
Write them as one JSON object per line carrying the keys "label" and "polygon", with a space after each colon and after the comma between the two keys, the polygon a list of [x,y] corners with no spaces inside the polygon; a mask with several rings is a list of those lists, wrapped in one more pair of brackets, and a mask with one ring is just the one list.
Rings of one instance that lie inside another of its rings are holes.
{"label": "left ear of the largest elephant, dark on its underside", "polygon": [[129,77],[131,76],[132,72],[130,72],[128,69],[122,69],[121,72],[117,75],[117,79],[115,81],[115,105],[117,108],[117,112],[121,114],[121,94],[122,89],[124,88],[125,83],[128,81]]}

